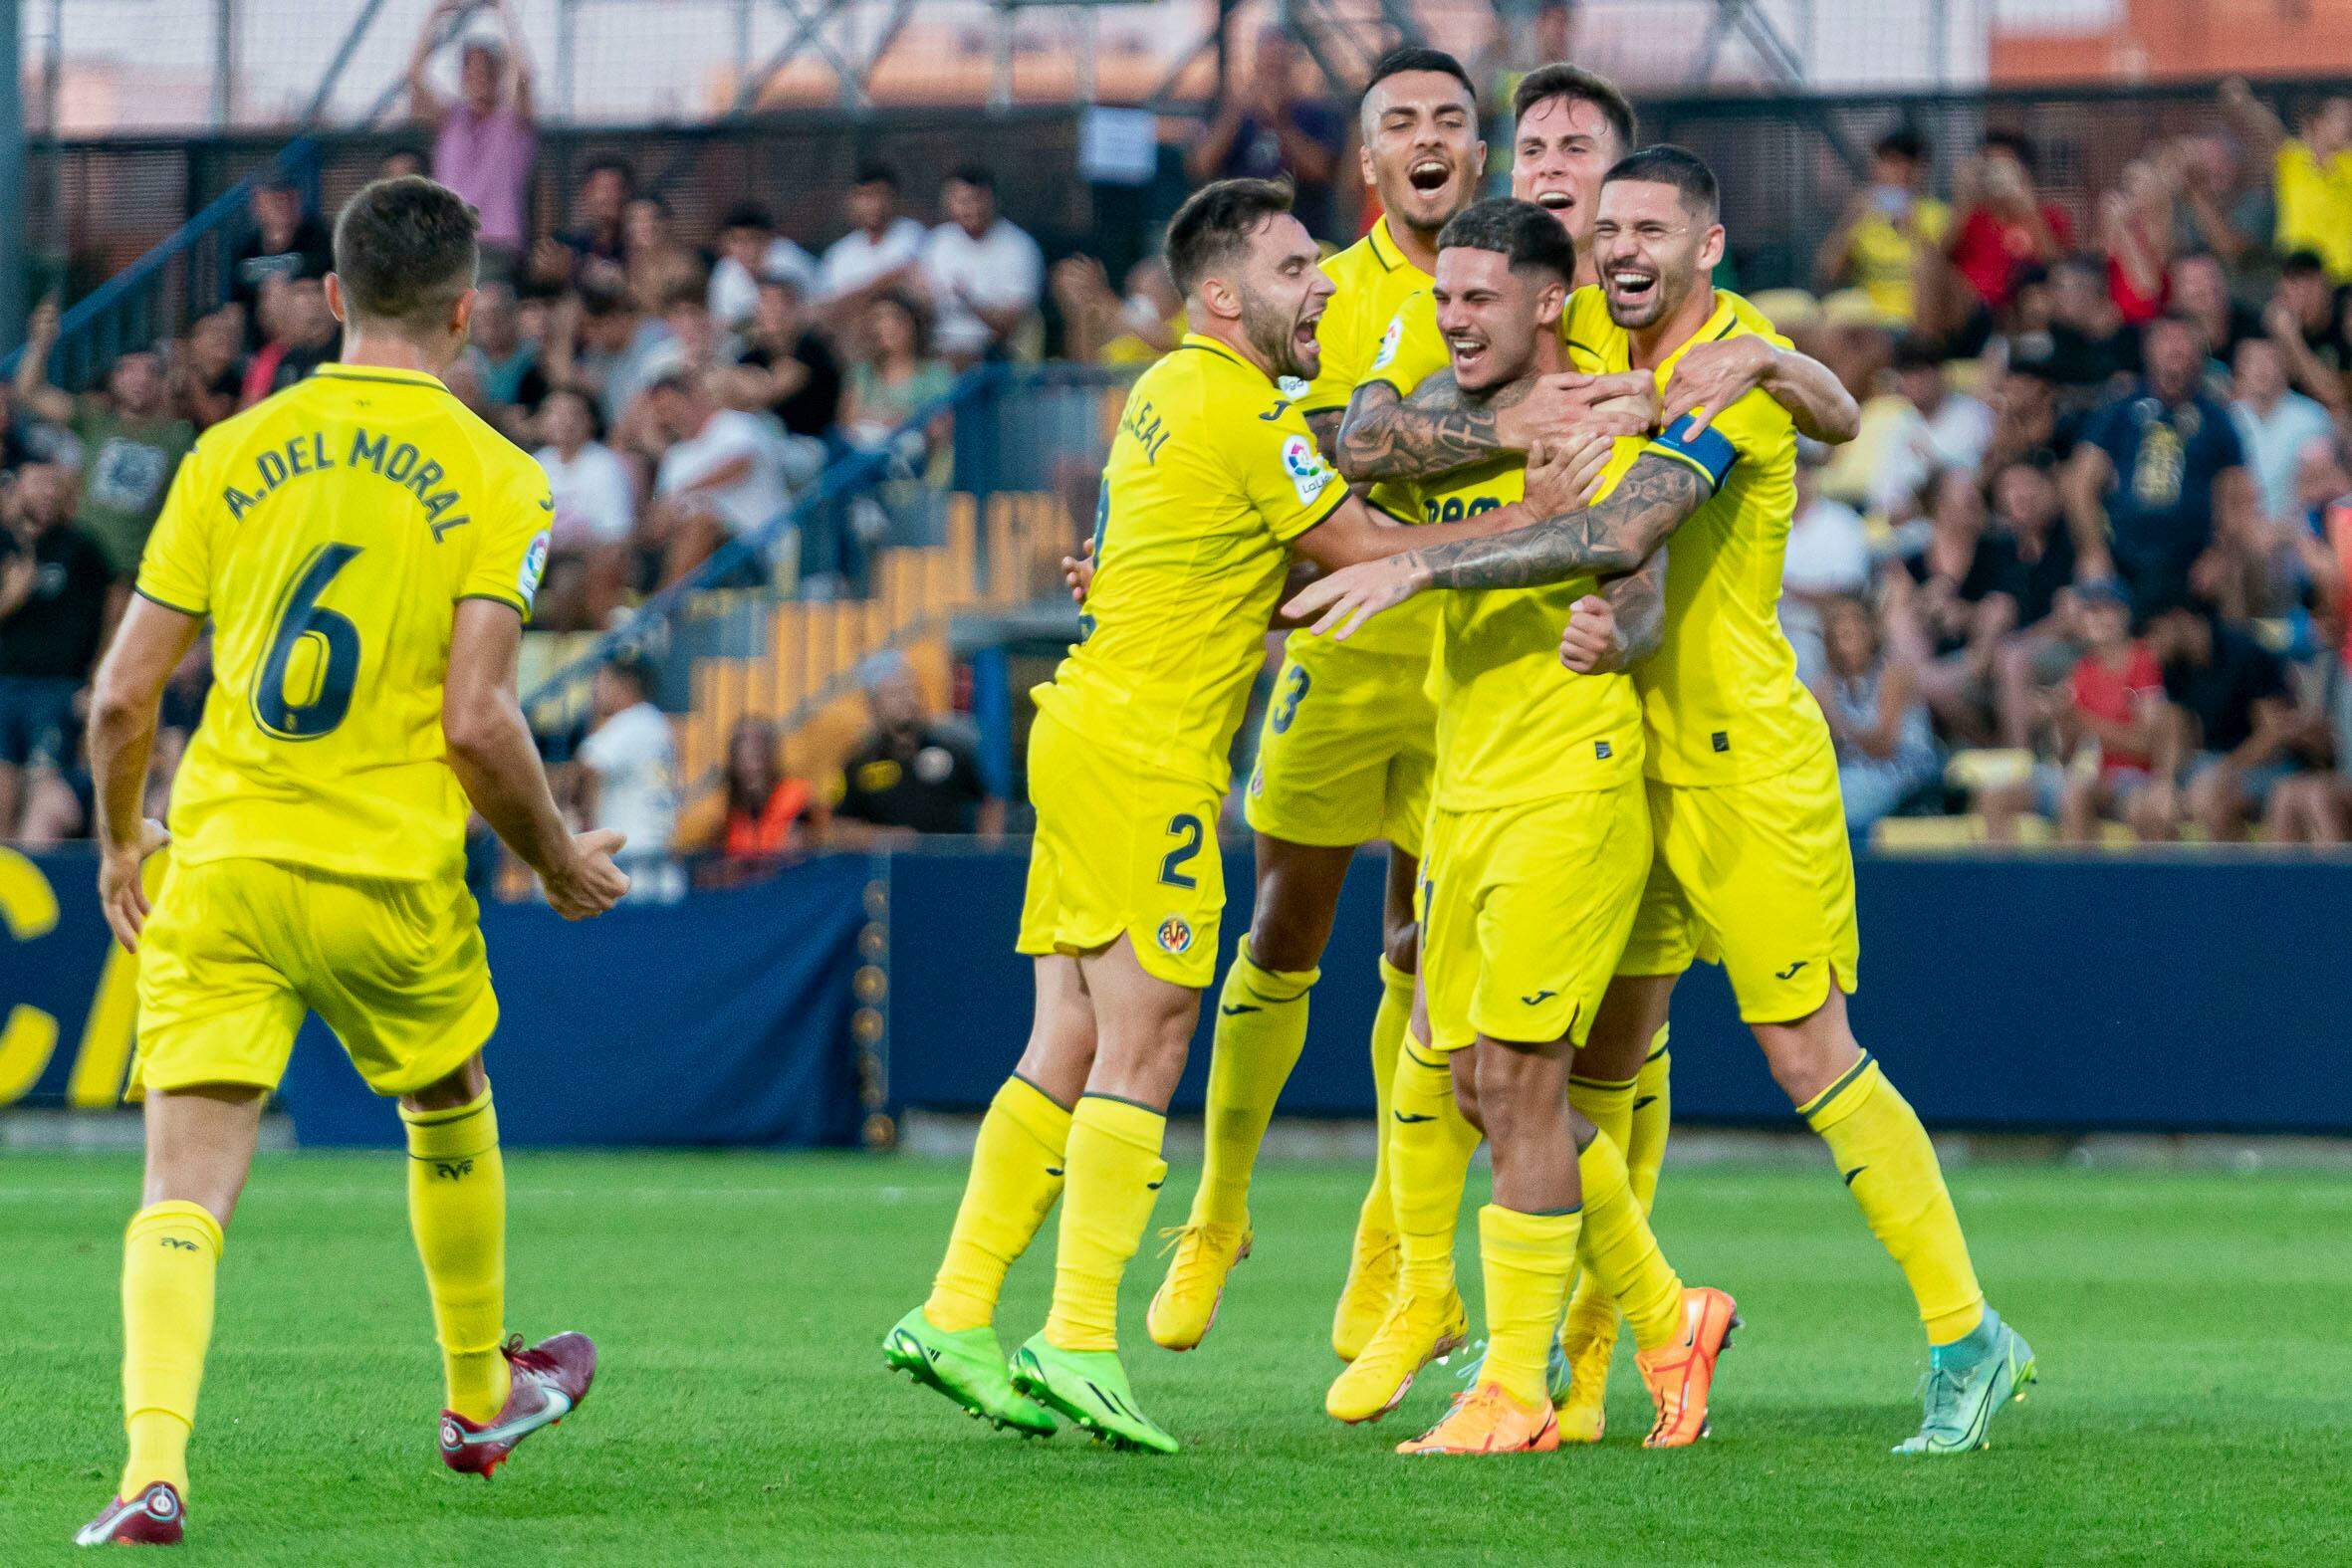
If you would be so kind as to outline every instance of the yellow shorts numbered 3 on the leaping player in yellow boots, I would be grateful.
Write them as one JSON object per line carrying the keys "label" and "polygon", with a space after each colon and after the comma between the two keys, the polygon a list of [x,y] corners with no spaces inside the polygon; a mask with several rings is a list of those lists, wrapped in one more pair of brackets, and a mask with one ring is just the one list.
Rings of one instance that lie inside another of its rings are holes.
{"label": "yellow shorts numbered 3 on the leaping player in yellow boots", "polygon": [[1329,639],[1305,661],[1284,654],[1242,799],[1249,825],[1291,844],[1388,839],[1418,856],[1437,757],[1428,675],[1428,658]]}

